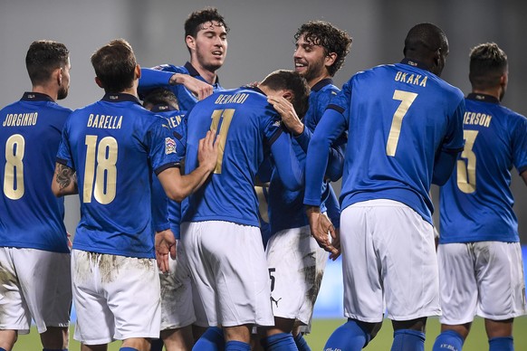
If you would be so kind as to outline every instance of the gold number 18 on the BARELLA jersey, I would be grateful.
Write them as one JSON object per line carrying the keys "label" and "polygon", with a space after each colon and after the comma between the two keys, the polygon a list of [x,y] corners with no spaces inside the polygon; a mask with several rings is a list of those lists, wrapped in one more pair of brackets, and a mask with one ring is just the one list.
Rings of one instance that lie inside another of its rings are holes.
{"label": "gold number 18 on the BARELLA jersey", "polygon": [[[95,188],[95,200],[100,204],[110,204],[115,198],[117,186],[117,140],[112,137],[86,136],[86,164],[84,166],[84,186],[82,202],[91,203]],[[97,155],[97,157],[95,157]],[[95,178],[95,179],[94,179]],[[93,186],[95,183],[95,186]]]}

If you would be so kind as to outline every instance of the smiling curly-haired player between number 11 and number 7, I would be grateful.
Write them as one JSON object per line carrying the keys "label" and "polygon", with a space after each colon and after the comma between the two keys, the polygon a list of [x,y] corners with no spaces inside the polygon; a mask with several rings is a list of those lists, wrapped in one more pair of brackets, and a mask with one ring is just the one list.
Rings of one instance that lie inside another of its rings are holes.
{"label": "smiling curly-haired player between number 11 and number 7", "polygon": [[[292,145],[300,164],[305,164],[305,153],[324,109],[340,91],[331,80],[339,71],[350,52],[351,38],[348,33],[323,21],[312,21],[295,33],[296,50],[293,55],[295,71],[308,81],[311,88],[309,109],[303,119],[286,113],[283,107],[283,122],[295,136]],[[277,101],[280,103],[280,101]],[[278,107],[277,107],[278,109]],[[291,109],[290,109],[291,110]],[[343,144],[340,140],[340,145]],[[331,147],[334,154],[332,180],[341,176],[343,150]],[[331,172],[330,172],[331,174]],[[340,210],[328,179],[321,192],[322,204],[330,201],[331,220],[338,223]],[[272,300],[274,327],[268,335],[288,333],[292,349],[309,349],[298,328],[294,342],[292,330],[295,322],[309,331],[313,306],[317,298],[322,275],[328,259],[327,252],[311,237],[307,215],[303,205],[303,189],[288,191],[276,172],[269,187],[269,220],[271,239],[266,249],[270,275],[272,276]],[[323,210],[325,211],[325,210]],[[337,225],[338,226],[338,225]],[[294,288],[292,288],[294,287]],[[294,346],[294,344],[298,346]]]}

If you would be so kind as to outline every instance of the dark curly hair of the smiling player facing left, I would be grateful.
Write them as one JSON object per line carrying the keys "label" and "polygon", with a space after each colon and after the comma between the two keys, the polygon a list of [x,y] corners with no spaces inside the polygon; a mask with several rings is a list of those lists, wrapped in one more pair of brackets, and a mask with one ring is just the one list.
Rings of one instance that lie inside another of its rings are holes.
{"label": "dark curly hair of the smiling player facing left", "polygon": [[337,54],[337,59],[328,68],[331,77],[340,70],[346,60],[346,55],[350,52],[353,39],[350,35],[339,28],[325,21],[310,21],[302,26],[294,34],[294,40],[304,35],[304,40],[311,45],[321,45],[324,52],[328,55],[331,52]]}

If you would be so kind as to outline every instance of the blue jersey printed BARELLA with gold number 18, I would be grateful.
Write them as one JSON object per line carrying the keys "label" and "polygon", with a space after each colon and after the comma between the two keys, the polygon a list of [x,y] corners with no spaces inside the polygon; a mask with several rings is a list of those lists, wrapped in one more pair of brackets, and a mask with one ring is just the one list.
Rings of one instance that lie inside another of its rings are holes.
{"label": "blue jersey printed BARELLA with gold number 18", "polygon": [[152,171],[178,166],[167,121],[129,94],[77,109],[62,131],[57,162],[77,173],[81,221],[73,249],[154,258]]}

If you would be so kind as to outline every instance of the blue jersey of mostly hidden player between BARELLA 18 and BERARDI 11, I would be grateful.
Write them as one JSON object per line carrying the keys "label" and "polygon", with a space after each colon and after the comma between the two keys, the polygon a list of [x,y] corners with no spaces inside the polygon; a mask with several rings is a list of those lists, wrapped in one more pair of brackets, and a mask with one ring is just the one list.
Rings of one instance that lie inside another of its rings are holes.
{"label": "blue jersey of mostly hidden player between BARELLA 18 and BERARDI 11", "polygon": [[[176,154],[179,159],[185,158],[187,149],[187,122],[185,115],[187,112],[170,109],[168,106],[154,106],[151,109],[156,115],[168,120],[168,127],[172,130],[172,136],[176,141]],[[154,198],[153,198],[153,216],[154,227],[156,231],[166,229],[164,223],[174,232],[176,239],[180,237],[179,224],[181,223],[181,204],[177,201],[168,199],[163,186],[159,183],[158,178],[153,179]]]}

